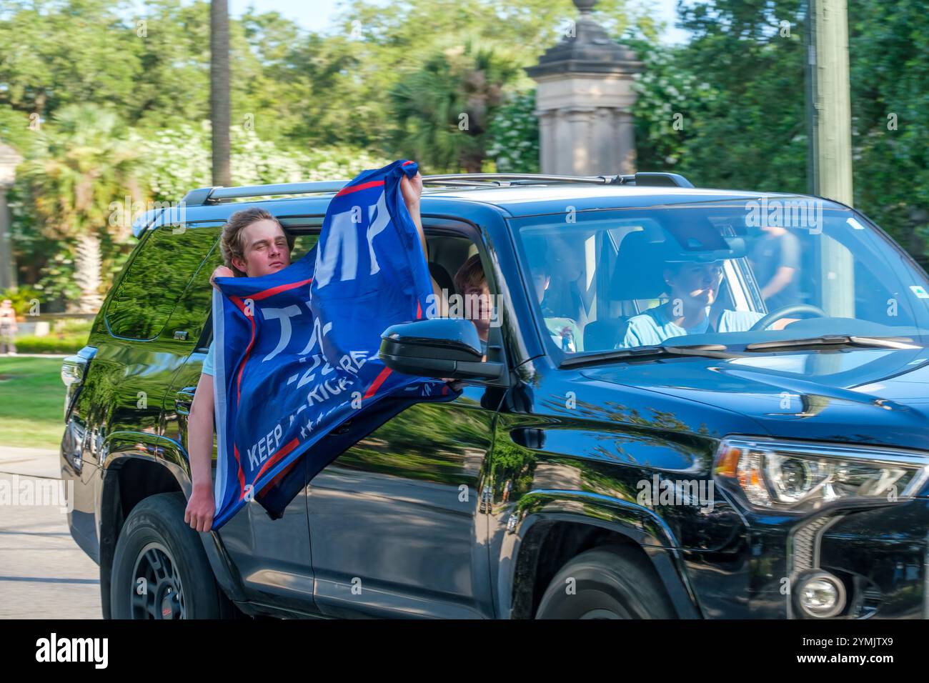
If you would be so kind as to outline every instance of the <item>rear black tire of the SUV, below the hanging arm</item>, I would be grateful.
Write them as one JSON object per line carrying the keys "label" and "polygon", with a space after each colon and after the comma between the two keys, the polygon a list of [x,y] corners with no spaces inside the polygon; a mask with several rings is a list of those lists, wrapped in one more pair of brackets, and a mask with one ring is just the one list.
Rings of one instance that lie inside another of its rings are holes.
{"label": "rear black tire of the SUV, below the hanging arm", "polygon": [[113,556],[113,619],[220,619],[234,612],[199,533],[184,522],[186,506],[183,493],[159,493],[129,513]]}

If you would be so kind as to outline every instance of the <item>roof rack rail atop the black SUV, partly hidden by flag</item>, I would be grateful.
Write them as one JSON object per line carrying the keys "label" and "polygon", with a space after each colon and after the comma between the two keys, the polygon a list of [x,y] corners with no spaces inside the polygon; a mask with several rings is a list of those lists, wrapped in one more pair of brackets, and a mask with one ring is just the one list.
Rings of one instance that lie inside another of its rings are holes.
{"label": "roof rack rail atop the black SUV, partly hidden by flag", "polygon": [[[337,192],[350,180],[318,180],[274,185],[242,185],[235,188],[200,188],[190,190],[181,204],[203,206],[228,199],[280,196],[282,194],[315,194]],[[595,183],[598,185],[644,185],[652,187],[692,188],[693,185],[676,173],[636,173],[628,176],[551,176],[540,173],[451,173],[424,176],[424,185],[445,187],[488,187],[529,185],[533,183]]]}

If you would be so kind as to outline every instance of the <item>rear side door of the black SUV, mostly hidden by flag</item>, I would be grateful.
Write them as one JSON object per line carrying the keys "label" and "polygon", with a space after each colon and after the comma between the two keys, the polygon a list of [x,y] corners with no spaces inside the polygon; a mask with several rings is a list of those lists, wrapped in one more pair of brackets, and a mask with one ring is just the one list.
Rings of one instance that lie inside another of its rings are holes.
{"label": "rear side door of the black SUV, mostly hidden by flag", "polygon": [[[190,402],[213,333],[210,315],[213,288],[209,277],[221,263],[217,243],[177,306],[184,316],[183,322],[172,319],[176,327],[182,327],[198,340],[177,371],[164,406],[164,435],[185,447]],[[298,466],[302,464],[300,461]],[[213,474],[215,479],[215,433]],[[250,501],[217,532],[242,577],[249,600],[280,610],[315,611],[306,497],[304,487],[285,508],[281,519],[271,519],[260,504]]]}

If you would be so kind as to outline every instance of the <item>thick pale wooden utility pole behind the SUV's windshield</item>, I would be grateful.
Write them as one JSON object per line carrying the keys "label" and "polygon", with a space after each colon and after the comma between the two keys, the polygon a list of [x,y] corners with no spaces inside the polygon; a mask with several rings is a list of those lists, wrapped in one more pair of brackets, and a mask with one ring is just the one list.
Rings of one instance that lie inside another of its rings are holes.
{"label": "thick pale wooden utility pole behind the SUV's windshield", "polygon": [[852,205],[852,105],[845,0],[807,0],[810,192]]}

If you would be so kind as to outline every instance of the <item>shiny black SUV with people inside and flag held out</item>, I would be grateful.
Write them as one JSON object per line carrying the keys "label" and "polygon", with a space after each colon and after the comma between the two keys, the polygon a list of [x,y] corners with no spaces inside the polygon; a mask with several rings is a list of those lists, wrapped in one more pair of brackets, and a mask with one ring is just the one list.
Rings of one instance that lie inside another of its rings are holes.
{"label": "shiny black SUV with people inside and flag held out", "polygon": [[62,367],[104,616],[926,616],[926,274],[842,204],[672,174],[426,177],[433,277],[484,265],[486,360],[460,362],[469,322],[400,325],[382,358],[458,398],[359,440],[281,519],[191,531],[219,232],[260,205],[299,256],[344,182],[193,190],[137,223]]}

